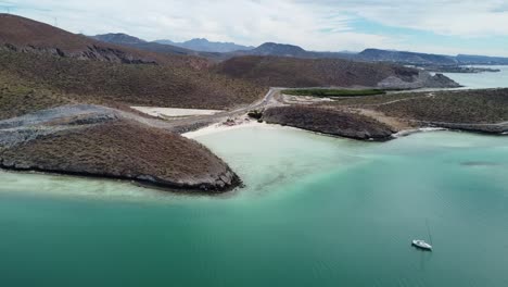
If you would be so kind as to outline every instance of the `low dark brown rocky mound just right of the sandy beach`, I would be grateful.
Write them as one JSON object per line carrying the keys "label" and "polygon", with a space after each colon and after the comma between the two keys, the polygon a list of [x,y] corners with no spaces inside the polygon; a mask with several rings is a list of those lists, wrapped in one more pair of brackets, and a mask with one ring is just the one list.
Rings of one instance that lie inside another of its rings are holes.
{"label": "low dark brown rocky mound just right of the sandy beach", "polygon": [[396,130],[371,117],[326,108],[290,105],[266,110],[263,120],[333,136],[361,140],[386,140]]}

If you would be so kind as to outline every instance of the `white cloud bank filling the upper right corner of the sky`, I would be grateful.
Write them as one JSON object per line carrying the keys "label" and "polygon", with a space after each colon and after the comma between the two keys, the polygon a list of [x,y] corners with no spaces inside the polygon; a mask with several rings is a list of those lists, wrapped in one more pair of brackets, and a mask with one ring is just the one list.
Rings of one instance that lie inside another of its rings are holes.
{"label": "white cloud bank filling the upper right corner of the sky", "polygon": [[508,36],[506,0],[300,0],[347,11],[384,25],[429,30],[441,35]]}

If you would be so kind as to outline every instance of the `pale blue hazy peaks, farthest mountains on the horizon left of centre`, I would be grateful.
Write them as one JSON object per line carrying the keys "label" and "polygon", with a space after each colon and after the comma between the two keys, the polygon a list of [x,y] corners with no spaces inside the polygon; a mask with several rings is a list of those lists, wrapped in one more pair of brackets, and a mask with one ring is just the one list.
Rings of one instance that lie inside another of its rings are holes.
{"label": "pale blue hazy peaks, farthest mountains on the horizon left of centre", "polygon": [[243,51],[243,50],[252,50],[255,47],[252,46],[242,46],[237,45],[234,42],[215,42],[208,41],[204,38],[195,38],[185,42],[174,42],[172,40],[156,40],[157,43],[163,45],[172,45],[185,49],[190,49],[194,51],[202,51],[202,52],[217,52],[217,53],[229,53],[233,51]]}

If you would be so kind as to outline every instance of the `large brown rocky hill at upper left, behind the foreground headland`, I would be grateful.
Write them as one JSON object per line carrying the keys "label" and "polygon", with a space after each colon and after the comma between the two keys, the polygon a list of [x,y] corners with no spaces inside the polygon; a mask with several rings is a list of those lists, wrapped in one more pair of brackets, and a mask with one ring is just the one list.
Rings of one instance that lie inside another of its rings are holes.
{"label": "large brown rocky hill at upper left, behind the foreground headland", "polygon": [[1,14],[0,24],[0,117],[62,102],[225,109],[264,93],[253,84],[211,73],[213,63],[203,58],[101,42],[14,15]]}

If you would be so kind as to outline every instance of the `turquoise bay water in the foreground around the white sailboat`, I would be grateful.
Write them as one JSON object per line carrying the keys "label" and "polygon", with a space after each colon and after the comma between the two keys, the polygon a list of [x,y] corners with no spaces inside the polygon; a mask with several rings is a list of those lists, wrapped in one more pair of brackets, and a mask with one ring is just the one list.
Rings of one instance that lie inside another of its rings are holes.
{"label": "turquoise bay water in the foreground around the white sailboat", "polygon": [[507,137],[256,127],[199,140],[244,189],[0,173],[0,286],[508,286]]}

